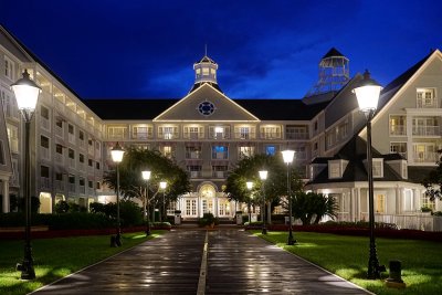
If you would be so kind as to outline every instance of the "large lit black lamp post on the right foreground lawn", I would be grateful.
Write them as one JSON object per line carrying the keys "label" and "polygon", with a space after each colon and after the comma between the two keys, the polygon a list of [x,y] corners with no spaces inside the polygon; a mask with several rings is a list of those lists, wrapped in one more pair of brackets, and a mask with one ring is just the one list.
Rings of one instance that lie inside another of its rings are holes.
{"label": "large lit black lamp post on the right foreground lawn", "polygon": [[372,179],[372,157],[371,157],[371,119],[378,107],[380,91],[382,87],[375,80],[370,78],[370,73],[366,70],[364,80],[352,89],[358,99],[359,109],[364,112],[367,118],[367,173],[368,173],[368,207],[369,207],[369,226],[370,226],[370,254],[368,260],[367,277],[369,280],[380,278],[380,272],[385,266],[379,266],[379,260],[376,253],[375,241],[375,198]]}

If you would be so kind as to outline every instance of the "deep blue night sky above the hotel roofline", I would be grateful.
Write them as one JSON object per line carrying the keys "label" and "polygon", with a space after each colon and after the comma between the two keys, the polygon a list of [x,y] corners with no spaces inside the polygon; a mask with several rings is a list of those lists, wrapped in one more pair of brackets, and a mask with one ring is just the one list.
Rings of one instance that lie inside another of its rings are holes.
{"label": "deep blue night sky above the hotel roofline", "polygon": [[442,49],[442,1],[0,0],[0,23],[82,98],[180,98],[204,55],[232,98],[302,98],[335,46],[386,85]]}

